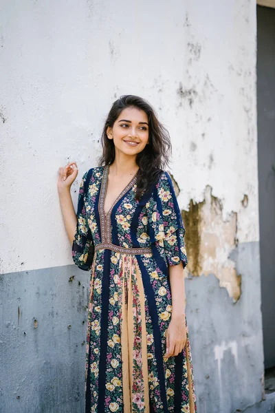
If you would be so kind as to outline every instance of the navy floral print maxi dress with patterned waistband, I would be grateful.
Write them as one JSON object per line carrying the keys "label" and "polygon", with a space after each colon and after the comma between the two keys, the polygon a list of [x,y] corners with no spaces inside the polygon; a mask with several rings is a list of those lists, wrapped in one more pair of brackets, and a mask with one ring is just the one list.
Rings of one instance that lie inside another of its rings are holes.
{"label": "navy floral print maxi dress with patterned waistband", "polygon": [[134,176],[105,214],[108,174],[106,166],[83,176],[72,247],[75,264],[91,271],[85,411],[194,413],[188,332],[184,350],[164,358],[168,266],[187,263],[173,184],[162,171],[136,200]]}

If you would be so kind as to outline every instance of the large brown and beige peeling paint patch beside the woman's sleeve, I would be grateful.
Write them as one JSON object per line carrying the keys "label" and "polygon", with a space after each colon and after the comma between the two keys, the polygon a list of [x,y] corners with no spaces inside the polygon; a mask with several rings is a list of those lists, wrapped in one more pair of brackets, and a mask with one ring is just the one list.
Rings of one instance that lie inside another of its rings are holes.
{"label": "large brown and beige peeling paint patch beside the woman's sleeve", "polygon": [[186,227],[187,271],[192,276],[214,274],[234,302],[241,296],[241,275],[229,257],[237,246],[237,214],[223,220],[221,200],[206,187],[202,202],[190,200],[189,211],[182,211]]}

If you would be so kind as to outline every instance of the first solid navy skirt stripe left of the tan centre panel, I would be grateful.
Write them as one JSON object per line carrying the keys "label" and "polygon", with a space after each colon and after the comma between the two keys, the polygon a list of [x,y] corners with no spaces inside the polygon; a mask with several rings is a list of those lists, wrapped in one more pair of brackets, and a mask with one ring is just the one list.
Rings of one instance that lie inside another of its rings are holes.
{"label": "first solid navy skirt stripe left of the tan centre panel", "polygon": [[110,262],[111,251],[104,251],[104,273],[101,293],[101,320],[100,320],[100,359],[98,376],[98,413],[104,413],[105,383],[107,368],[107,340],[108,340],[108,315],[109,315],[109,290],[110,290]]}

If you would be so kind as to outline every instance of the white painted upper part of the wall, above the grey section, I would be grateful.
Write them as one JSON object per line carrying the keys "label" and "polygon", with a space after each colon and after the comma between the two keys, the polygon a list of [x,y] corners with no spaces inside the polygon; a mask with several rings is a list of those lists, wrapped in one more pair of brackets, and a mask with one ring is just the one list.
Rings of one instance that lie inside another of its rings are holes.
{"label": "white painted upper part of the wall, above the grey section", "polygon": [[170,131],[180,207],[210,184],[224,217],[238,214],[239,242],[259,240],[256,2],[0,8],[1,273],[72,263],[58,167],[77,160],[81,177],[96,166],[104,116],[127,93],[147,98]]}

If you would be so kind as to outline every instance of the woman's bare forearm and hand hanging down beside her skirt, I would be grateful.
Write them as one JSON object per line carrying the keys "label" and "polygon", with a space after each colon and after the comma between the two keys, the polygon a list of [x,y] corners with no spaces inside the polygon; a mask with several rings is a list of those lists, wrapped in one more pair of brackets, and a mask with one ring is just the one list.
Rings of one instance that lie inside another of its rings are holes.
{"label": "woman's bare forearm and hand hanging down beside her skirt", "polygon": [[172,317],[166,330],[166,353],[164,357],[177,356],[186,343],[186,319],[185,319],[185,290],[184,290],[184,266],[169,266],[170,288],[172,293]]}

